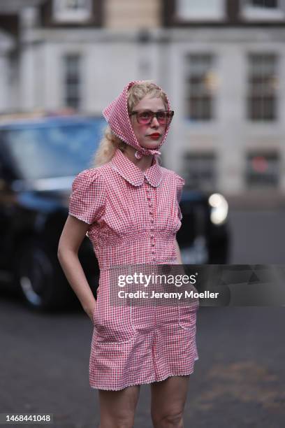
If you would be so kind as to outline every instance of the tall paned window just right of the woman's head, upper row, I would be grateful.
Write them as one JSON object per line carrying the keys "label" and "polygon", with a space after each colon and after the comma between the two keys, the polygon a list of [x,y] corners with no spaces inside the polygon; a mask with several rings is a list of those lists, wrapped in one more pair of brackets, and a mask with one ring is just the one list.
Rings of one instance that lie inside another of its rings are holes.
{"label": "tall paned window just right of the woman's head, upper row", "polygon": [[213,95],[216,76],[212,55],[187,56],[186,67],[186,117],[190,120],[213,118]]}

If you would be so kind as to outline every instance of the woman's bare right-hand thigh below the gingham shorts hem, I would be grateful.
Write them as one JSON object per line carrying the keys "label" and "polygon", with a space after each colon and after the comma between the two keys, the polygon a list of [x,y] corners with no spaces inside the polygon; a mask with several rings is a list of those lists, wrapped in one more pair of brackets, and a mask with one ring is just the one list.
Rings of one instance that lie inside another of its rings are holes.
{"label": "woman's bare right-hand thigh below the gingham shorts hem", "polygon": [[154,419],[182,415],[189,390],[187,376],[170,376],[151,384],[151,413]]}

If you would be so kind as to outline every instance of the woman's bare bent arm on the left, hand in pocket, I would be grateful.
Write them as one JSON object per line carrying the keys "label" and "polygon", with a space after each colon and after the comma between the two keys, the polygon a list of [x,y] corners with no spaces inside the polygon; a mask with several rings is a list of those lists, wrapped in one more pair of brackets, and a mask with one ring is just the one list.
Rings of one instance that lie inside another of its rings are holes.
{"label": "woman's bare bent arm on the left, hand in pocket", "polygon": [[92,320],[96,300],[78,259],[78,250],[85,238],[89,224],[68,215],[59,239],[57,258],[68,283],[80,300],[82,308]]}

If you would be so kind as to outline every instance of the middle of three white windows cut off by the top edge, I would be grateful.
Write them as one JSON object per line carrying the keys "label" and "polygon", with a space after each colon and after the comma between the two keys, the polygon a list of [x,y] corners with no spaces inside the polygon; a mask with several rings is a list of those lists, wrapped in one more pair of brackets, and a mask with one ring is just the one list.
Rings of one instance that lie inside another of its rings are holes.
{"label": "middle of three white windows cut off by the top edge", "polygon": [[225,17],[225,0],[176,0],[178,20],[221,20]]}

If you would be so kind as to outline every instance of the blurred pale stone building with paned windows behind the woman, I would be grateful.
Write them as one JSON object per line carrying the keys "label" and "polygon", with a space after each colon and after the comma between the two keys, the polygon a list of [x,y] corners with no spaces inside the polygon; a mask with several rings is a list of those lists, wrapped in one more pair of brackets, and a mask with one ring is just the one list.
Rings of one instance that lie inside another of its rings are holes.
{"label": "blurred pale stone building with paned windows behind the woman", "polygon": [[101,110],[150,78],[164,164],[228,196],[285,193],[285,0],[0,0],[0,110]]}

